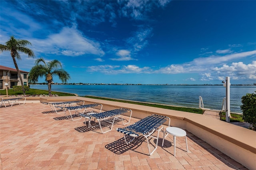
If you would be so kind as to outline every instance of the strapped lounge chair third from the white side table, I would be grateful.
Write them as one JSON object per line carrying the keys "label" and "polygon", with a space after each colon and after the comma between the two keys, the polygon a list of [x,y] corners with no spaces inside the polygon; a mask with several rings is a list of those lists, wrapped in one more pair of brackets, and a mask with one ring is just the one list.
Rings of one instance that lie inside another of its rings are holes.
{"label": "strapped lounge chair third from the white side table", "polygon": [[[84,113],[92,113],[94,108],[97,107],[97,106],[101,106],[100,107],[100,112],[102,110],[102,104],[87,104],[87,105],[79,105],[79,106],[69,106],[69,107],[63,107],[63,106],[55,106],[56,108],[59,108],[59,109],[63,109],[64,110],[64,113],[65,113],[65,116],[66,115],[66,111],[68,110],[68,112],[70,113],[70,116],[71,116],[71,119],[72,121],[76,121],[76,120],[80,120],[82,119],[82,116],[80,115],[81,114],[84,114]],[[82,110],[84,109],[82,112],[80,112],[79,110]],[[75,115],[77,115],[77,113],[79,113],[80,117],[77,118],[77,119],[74,119],[73,116],[72,116],[72,113],[71,111],[75,111]]]}

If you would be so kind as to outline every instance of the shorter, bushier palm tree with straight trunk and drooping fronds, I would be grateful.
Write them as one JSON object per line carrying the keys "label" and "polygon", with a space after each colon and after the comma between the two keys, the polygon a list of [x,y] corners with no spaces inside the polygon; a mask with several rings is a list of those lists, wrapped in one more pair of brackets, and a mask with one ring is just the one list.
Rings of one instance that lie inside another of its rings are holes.
{"label": "shorter, bushier palm tree with straight trunk and drooping fronds", "polygon": [[[44,64],[40,64],[40,62]],[[52,76],[58,76],[62,83],[66,83],[70,79],[70,75],[64,69],[58,60],[49,61],[45,63],[43,58],[37,59],[35,61],[35,66],[33,66],[28,75],[28,81],[31,83],[38,82],[38,78],[45,77],[45,81],[48,82],[48,95],[52,94]]]}

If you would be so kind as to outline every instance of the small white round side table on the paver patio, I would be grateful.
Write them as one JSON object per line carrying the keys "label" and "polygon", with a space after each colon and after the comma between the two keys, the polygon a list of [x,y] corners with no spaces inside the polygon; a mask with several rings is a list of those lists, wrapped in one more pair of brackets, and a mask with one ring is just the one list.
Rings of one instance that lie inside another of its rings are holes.
{"label": "small white round side table on the paver patio", "polygon": [[[178,127],[167,127],[165,130],[165,133],[173,135],[173,143],[174,143],[174,156],[176,156],[176,136],[178,137],[185,137],[186,139],[186,147],[188,152],[188,143],[187,143],[187,133],[183,129],[180,129]],[[167,136],[166,135],[166,136]],[[164,135],[165,136],[165,135]],[[164,146],[164,138],[162,142],[162,147]]]}

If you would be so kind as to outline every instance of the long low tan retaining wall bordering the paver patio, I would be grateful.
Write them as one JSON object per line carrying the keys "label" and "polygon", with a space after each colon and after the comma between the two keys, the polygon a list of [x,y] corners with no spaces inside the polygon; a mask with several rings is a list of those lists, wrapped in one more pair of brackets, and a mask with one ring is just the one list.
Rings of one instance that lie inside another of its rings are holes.
{"label": "long low tan retaining wall bordering the paver patio", "polygon": [[[30,101],[32,98],[26,100]],[[102,110],[124,107],[131,109],[132,117],[138,119],[151,114],[165,115],[170,117],[171,126],[186,129],[248,169],[256,168],[256,132],[205,115],[77,96],[36,97],[33,100],[40,102],[84,100],[85,104],[102,104]]]}

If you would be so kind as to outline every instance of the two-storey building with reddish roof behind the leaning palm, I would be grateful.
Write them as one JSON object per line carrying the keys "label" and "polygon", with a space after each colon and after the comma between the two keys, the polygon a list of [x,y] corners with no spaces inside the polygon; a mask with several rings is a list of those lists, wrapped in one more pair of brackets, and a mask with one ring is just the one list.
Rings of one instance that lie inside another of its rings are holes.
{"label": "two-storey building with reddish roof behind the leaning palm", "polygon": [[[27,71],[20,70],[21,78],[24,86],[28,86],[28,73]],[[20,77],[16,68],[10,68],[0,65],[0,89],[5,89],[5,83],[8,83],[8,88],[12,86],[21,86]]]}

